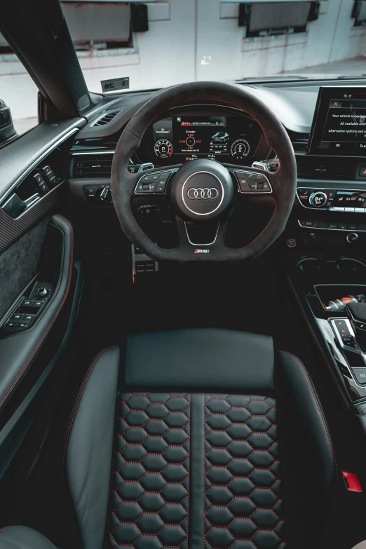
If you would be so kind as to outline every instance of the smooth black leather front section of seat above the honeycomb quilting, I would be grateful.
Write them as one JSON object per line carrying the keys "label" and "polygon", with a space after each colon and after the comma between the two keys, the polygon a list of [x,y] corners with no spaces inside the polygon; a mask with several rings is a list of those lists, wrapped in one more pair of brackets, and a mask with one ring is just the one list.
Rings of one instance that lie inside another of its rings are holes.
{"label": "smooth black leather front section of seat above the honeycomb quilting", "polygon": [[273,391],[271,337],[197,328],[130,334],[124,384],[154,390]]}

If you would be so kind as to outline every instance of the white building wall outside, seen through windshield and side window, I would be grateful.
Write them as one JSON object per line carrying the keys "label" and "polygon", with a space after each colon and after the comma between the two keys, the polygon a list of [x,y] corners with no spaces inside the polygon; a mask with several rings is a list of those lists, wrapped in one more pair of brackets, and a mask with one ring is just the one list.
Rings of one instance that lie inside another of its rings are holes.
{"label": "white building wall outside, seen through windshield and side window", "polygon": [[[366,55],[366,27],[353,28],[350,0],[322,1],[319,18],[307,32],[269,38],[245,37],[238,26],[238,2],[157,0],[148,6],[149,31],[135,35],[133,48],[78,52],[90,90],[100,92],[101,80],[119,76],[130,77],[131,89],[158,88],[196,79],[301,72]],[[15,120],[36,117],[36,86],[13,55],[0,57],[0,97]]]}

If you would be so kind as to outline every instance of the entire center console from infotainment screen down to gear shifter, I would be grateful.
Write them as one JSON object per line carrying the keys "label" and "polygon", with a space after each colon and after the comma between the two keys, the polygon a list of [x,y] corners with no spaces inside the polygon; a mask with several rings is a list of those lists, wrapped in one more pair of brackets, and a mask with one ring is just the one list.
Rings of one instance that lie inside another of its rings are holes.
{"label": "entire center console from infotainment screen down to gear shifter", "polygon": [[366,402],[366,88],[320,88],[287,240],[290,287],[337,393]]}

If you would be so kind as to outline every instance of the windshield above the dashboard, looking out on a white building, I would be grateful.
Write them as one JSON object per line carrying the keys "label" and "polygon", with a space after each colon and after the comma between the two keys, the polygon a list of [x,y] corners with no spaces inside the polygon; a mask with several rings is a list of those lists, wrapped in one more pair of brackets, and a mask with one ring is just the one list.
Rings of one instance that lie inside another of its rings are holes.
{"label": "windshield above the dashboard, looking out on a white building", "polygon": [[[366,76],[366,1],[64,1],[88,88]],[[103,82],[103,83],[101,83]]]}

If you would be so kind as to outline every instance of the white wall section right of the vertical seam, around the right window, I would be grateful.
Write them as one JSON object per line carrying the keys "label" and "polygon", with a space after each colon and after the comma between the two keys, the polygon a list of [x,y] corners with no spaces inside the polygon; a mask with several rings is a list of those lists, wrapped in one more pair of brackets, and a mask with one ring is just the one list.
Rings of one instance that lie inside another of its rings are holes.
{"label": "white wall section right of the vertical seam, around the right window", "polygon": [[[366,55],[366,27],[352,28],[352,6],[349,0],[323,1],[307,32],[246,38],[245,29],[238,27],[237,3],[199,0],[198,79],[266,76]],[[209,65],[199,64],[203,55],[211,56]]]}

